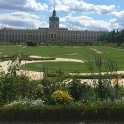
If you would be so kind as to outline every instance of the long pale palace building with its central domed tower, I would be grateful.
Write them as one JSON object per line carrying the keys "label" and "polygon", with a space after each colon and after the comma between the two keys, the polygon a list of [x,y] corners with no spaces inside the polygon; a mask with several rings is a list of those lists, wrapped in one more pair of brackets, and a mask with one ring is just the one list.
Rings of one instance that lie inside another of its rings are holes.
{"label": "long pale palace building with its central domed tower", "polygon": [[96,42],[97,39],[107,33],[107,31],[87,31],[87,30],[69,30],[68,28],[59,27],[59,17],[56,16],[56,10],[53,10],[52,16],[49,17],[49,28],[39,29],[0,29],[0,42],[24,43],[29,40],[38,44],[49,42],[64,43],[83,43]]}

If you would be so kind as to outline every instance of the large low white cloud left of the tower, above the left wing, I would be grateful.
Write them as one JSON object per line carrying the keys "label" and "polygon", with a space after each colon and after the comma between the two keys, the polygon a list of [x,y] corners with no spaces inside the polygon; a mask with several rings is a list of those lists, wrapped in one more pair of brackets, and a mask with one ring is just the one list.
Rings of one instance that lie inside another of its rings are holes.
{"label": "large low white cloud left of the tower, above the left wing", "polygon": [[37,15],[26,12],[11,12],[0,14],[0,25],[2,27],[14,28],[39,28],[48,27],[45,21]]}

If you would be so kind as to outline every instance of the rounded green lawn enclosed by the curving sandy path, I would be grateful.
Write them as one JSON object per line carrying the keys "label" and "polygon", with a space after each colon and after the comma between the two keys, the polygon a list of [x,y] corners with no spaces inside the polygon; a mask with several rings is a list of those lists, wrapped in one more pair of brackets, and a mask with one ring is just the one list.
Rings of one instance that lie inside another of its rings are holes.
{"label": "rounded green lawn enclosed by the curving sandy path", "polygon": [[23,65],[22,69],[43,71],[44,66],[46,66],[50,72],[60,69],[64,72],[87,72],[87,67],[83,63],[78,62],[38,62]]}

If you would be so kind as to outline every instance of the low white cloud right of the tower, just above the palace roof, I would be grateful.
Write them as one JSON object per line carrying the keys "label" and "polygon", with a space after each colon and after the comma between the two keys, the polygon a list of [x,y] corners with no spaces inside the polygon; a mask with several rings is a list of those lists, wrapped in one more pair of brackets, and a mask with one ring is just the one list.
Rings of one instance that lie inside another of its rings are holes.
{"label": "low white cloud right of the tower, just above the palace roof", "polygon": [[63,27],[77,28],[82,30],[112,30],[117,28],[117,24],[103,21],[103,20],[94,20],[88,16],[74,16],[68,15],[60,19],[60,23]]}

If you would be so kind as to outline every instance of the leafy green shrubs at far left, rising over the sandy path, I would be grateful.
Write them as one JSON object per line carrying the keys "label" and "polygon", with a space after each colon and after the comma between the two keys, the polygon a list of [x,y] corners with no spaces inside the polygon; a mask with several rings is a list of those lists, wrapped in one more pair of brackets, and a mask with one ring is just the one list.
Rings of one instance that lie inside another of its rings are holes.
{"label": "leafy green shrubs at far left, rising over the sandy path", "polygon": [[12,61],[7,74],[0,74],[0,102],[11,102],[17,99],[38,99],[42,97],[42,90],[38,82],[30,81],[25,75],[17,75],[20,59]]}

